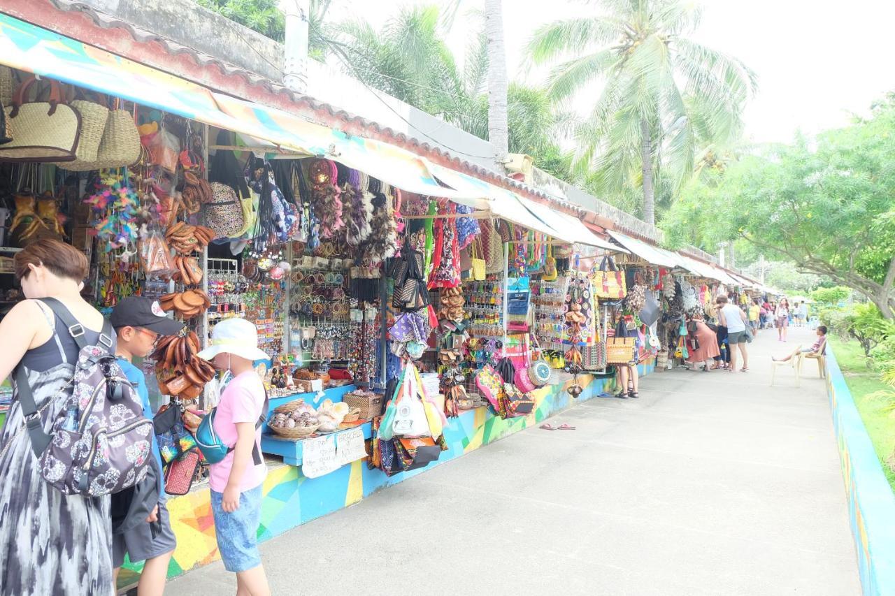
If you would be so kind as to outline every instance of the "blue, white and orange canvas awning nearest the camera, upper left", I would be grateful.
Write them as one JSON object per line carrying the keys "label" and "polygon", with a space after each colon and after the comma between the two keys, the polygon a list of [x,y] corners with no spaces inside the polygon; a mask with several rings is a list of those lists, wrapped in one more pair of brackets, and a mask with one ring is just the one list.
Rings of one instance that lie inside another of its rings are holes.
{"label": "blue, white and orange canvas awning nearest the camera, upper left", "polygon": [[299,155],[336,159],[405,191],[473,203],[487,197],[470,188],[445,188],[428,162],[406,149],[232,98],[7,14],[0,14],[0,64],[246,134]]}

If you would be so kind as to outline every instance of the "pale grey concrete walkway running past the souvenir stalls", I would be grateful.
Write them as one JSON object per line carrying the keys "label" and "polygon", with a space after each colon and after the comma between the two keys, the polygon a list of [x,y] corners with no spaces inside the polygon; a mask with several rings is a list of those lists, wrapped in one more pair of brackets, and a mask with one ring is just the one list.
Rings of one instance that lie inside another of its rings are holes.
{"label": "pale grey concrete walkway running past the souvenir stalls", "polygon": [[[261,545],[274,594],[860,593],[814,362],[653,374]],[[170,594],[233,594],[220,563]]]}

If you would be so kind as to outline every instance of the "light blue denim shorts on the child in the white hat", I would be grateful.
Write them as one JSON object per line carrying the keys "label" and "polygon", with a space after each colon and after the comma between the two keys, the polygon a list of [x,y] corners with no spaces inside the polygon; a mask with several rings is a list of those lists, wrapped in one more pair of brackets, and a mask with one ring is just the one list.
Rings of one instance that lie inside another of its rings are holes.
{"label": "light blue denim shorts on the child in the white hat", "polygon": [[227,513],[221,507],[222,493],[211,491],[211,512],[215,516],[217,549],[224,568],[232,573],[248,571],[261,564],[258,552],[258,526],[261,523],[261,488],[239,495],[239,508]]}

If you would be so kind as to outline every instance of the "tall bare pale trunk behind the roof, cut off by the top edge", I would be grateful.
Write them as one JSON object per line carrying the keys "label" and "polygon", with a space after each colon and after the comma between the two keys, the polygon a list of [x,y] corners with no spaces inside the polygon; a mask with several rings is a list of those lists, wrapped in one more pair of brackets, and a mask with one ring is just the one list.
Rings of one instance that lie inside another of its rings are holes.
{"label": "tall bare pale trunk behind the roof, cut off by the top edge", "polygon": [[504,48],[502,0],[485,0],[485,34],[488,36],[488,140],[494,164],[504,171],[509,153],[507,132],[507,50]]}

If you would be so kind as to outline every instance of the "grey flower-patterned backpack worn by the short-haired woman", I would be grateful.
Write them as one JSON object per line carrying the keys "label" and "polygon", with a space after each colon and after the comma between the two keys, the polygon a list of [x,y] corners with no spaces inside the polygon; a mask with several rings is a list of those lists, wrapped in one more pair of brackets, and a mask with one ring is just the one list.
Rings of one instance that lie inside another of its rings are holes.
{"label": "grey flower-patterned backpack worn by the short-haired woman", "polygon": [[41,302],[62,320],[80,350],[72,380],[44,406],[73,387],[49,434],[24,367],[15,372],[21,413],[41,475],[66,495],[100,497],[130,488],[151,465],[152,421],[143,415],[140,396],[115,361],[112,326],[105,321],[98,345],[88,345],[83,326],[62,302]]}

